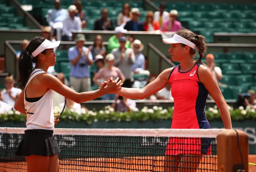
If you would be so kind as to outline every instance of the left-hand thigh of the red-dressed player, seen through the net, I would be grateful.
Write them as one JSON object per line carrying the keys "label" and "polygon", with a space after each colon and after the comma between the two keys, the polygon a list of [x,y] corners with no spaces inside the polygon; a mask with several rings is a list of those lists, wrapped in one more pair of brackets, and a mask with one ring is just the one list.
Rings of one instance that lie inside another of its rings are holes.
{"label": "left-hand thigh of the red-dressed player, seen through the net", "polygon": [[164,156],[164,172],[177,171],[180,162],[179,155],[165,155]]}

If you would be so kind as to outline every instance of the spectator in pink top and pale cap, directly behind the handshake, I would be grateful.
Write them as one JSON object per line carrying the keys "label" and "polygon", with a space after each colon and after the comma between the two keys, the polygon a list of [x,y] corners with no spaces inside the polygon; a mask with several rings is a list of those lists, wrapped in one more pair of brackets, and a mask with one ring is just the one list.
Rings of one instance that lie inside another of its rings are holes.
{"label": "spectator in pink top and pale cap, directly behind the handshake", "polygon": [[[101,68],[95,75],[94,78],[92,79],[99,87],[101,86],[102,82],[99,82],[98,79],[101,80],[108,80],[108,78],[113,77],[113,79],[116,79],[119,77],[122,82],[125,81],[124,74],[122,71],[114,66],[115,62],[115,57],[112,54],[106,55],[106,67]],[[105,94],[102,96],[102,100],[115,100],[115,95],[116,94]]]}

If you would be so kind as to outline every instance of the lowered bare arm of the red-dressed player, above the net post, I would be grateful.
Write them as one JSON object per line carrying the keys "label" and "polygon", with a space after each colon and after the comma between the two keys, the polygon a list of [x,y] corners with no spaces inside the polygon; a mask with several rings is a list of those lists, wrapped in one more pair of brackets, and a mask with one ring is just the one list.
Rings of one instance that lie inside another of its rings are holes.
{"label": "lowered bare arm of the red-dressed player, above the net post", "polygon": [[205,88],[208,90],[213,100],[216,102],[218,108],[220,109],[220,114],[225,129],[232,129],[228,105],[226,104],[220,88],[212,75],[212,72],[206,66],[200,65],[198,68],[198,77],[200,82],[204,84]]}

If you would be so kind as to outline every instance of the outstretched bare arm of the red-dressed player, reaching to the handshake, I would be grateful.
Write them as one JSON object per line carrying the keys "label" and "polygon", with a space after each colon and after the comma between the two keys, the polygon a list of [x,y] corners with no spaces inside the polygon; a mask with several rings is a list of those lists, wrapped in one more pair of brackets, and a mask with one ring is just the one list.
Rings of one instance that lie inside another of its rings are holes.
{"label": "outstretched bare arm of the red-dressed player, reaching to the handshake", "polygon": [[164,70],[154,81],[150,82],[150,84],[146,85],[144,88],[121,88],[115,93],[126,98],[143,100],[163,89],[168,84],[171,71],[172,68]]}

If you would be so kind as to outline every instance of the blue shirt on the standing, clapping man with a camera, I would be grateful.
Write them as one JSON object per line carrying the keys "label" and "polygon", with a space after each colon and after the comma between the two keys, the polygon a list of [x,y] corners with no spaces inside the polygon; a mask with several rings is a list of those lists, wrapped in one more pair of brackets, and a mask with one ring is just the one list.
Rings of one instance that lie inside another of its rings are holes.
{"label": "blue shirt on the standing, clapping man with a camera", "polygon": [[[82,57],[79,59],[78,63],[76,65],[71,64],[70,68],[70,76],[73,76],[75,78],[85,78],[90,77],[90,65],[87,63],[86,56],[84,55],[84,52],[88,51],[88,48],[82,47],[83,53]],[[74,60],[78,57],[78,49],[76,46],[71,47],[68,49],[68,59],[69,61]],[[90,60],[92,60],[92,53],[90,52],[88,54],[88,57]],[[84,66],[80,66],[80,63],[85,62]]]}

